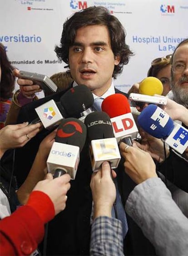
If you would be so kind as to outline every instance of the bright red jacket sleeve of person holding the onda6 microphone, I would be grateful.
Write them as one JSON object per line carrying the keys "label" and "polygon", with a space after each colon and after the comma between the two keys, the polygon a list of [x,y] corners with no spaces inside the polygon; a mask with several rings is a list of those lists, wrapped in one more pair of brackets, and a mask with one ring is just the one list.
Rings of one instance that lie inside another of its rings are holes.
{"label": "bright red jacket sleeve of person holding the onda6 microphone", "polygon": [[0,221],[0,255],[30,255],[43,239],[46,220],[53,217],[54,205],[49,196],[32,192],[27,205]]}

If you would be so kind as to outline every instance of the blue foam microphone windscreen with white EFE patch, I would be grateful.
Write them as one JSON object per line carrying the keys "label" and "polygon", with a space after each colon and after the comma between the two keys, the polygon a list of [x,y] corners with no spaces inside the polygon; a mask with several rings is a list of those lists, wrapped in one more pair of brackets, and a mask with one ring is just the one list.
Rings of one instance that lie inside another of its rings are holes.
{"label": "blue foam microphone windscreen with white EFE patch", "polygon": [[148,105],[142,110],[138,116],[138,124],[144,131],[158,139],[169,136],[174,127],[170,116],[154,104]]}

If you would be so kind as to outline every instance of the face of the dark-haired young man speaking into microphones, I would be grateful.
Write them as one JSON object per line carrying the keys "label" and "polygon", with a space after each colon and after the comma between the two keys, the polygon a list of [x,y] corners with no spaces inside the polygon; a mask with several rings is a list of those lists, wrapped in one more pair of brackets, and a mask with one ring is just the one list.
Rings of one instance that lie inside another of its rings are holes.
{"label": "face of the dark-haired young man speaking into microphones", "polygon": [[69,48],[69,66],[77,84],[86,85],[95,95],[103,95],[111,85],[114,65],[119,60],[114,57],[106,26],[84,26],[76,31],[74,45]]}

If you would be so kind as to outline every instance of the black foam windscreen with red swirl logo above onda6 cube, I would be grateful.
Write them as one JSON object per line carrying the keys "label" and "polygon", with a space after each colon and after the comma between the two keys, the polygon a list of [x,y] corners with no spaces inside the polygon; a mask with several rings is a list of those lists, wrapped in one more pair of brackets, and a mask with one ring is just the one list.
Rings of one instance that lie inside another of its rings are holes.
{"label": "black foam windscreen with red swirl logo above onda6 cube", "polygon": [[72,146],[79,146],[82,151],[87,135],[84,123],[76,118],[66,118],[58,126],[55,141]]}

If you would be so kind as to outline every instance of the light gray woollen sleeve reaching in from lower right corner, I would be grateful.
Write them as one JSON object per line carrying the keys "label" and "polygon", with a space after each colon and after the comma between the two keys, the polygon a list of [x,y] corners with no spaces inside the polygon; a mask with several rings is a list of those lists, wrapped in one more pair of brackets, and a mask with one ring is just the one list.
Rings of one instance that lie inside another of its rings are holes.
{"label": "light gray woollen sleeve reaching in from lower right corner", "polygon": [[125,210],[158,255],[188,255],[188,219],[160,178],[150,178],[130,193]]}

